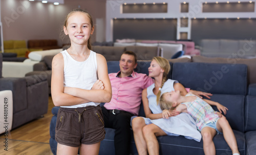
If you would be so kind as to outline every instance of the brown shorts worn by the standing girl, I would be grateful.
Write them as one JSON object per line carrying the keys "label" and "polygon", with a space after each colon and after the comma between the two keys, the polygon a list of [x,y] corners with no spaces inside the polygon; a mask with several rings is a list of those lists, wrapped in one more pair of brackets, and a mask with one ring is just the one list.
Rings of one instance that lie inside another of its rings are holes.
{"label": "brown shorts worn by the standing girl", "polygon": [[73,147],[102,141],[105,138],[102,116],[100,106],[60,107],[55,128],[55,140],[59,144]]}

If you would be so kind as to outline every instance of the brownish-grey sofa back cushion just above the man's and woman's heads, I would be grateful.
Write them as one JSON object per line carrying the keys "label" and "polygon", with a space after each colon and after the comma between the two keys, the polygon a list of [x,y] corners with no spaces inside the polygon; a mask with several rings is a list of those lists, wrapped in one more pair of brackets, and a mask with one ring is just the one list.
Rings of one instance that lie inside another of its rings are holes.
{"label": "brownish-grey sofa back cushion just above the man's and woman's heads", "polygon": [[144,46],[127,46],[125,51],[133,51],[137,55],[138,60],[152,60],[155,56],[160,56],[158,47],[144,47]]}

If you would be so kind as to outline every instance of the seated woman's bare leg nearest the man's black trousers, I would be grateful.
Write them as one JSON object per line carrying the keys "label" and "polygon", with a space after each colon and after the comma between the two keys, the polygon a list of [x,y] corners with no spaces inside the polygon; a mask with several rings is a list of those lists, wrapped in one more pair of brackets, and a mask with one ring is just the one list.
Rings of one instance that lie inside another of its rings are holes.
{"label": "seated woman's bare leg nearest the man's black trousers", "polygon": [[136,117],[132,120],[134,141],[137,147],[137,151],[140,155],[147,155],[146,141],[142,133],[142,128],[145,125],[145,121],[141,117]]}

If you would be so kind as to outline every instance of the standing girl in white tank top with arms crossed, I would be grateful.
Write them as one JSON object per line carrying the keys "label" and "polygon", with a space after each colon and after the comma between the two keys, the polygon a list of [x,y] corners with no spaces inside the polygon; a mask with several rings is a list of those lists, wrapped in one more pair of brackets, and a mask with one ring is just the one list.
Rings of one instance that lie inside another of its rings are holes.
{"label": "standing girl in white tank top with arms crossed", "polygon": [[60,106],[55,129],[57,154],[77,154],[79,146],[80,154],[98,154],[105,136],[99,104],[110,102],[112,96],[108,67],[102,55],[91,51],[94,26],[88,12],[71,11],[63,31],[71,47],[54,56],[51,81],[53,103]]}

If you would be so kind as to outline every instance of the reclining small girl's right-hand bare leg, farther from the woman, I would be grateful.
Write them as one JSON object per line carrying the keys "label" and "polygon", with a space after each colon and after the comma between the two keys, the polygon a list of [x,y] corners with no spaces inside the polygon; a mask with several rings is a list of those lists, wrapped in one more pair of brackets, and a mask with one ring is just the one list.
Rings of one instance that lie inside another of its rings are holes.
{"label": "reclining small girl's right-hand bare leg, farther from the woman", "polygon": [[217,121],[217,129],[223,132],[224,139],[232,150],[232,153],[239,153],[236,137],[234,137],[234,132],[225,117],[221,117]]}

